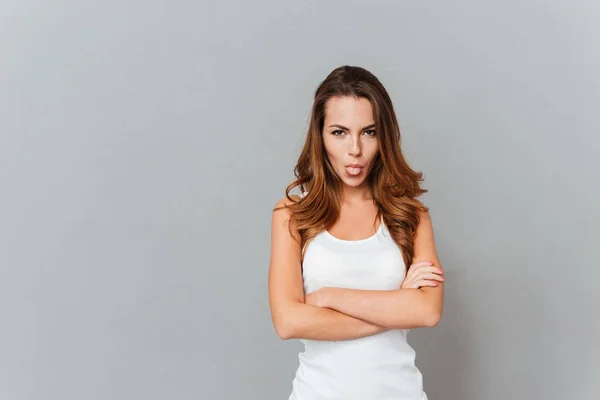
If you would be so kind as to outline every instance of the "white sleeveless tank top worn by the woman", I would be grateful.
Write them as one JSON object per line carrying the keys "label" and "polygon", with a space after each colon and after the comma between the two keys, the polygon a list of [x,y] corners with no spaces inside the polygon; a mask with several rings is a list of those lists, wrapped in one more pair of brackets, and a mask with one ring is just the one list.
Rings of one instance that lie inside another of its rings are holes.
{"label": "white sleeveless tank top worn by the woman", "polygon": [[[405,277],[402,253],[383,218],[367,239],[319,233],[305,247],[302,267],[306,294],[322,287],[399,289]],[[427,400],[408,331],[390,329],[351,340],[301,339],[304,352],[298,353],[288,400]]]}

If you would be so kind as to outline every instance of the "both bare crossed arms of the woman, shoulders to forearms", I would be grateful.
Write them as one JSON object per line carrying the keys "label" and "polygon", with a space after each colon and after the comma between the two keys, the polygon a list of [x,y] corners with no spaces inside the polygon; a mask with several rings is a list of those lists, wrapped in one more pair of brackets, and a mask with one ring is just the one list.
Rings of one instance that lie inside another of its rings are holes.
{"label": "both bare crossed arms of the woman, shoulders to forearms", "polygon": [[[285,204],[284,198],[278,206]],[[347,340],[388,329],[436,326],[443,308],[443,283],[396,290],[323,288],[304,295],[300,249],[285,224],[287,210],[273,213],[269,298],[275,330],[282,339]],[[289,216],[289,215],[288,215]],[[431,220],[422,213],[414,241],[413,263],[438,260]],[[287,265],[287,267],[286,267]]]}

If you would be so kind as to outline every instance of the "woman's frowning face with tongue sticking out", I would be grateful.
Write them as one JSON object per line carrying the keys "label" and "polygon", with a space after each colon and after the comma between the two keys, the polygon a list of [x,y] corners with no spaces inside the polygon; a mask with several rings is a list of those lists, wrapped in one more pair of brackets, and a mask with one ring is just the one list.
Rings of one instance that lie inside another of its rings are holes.
{"label": "woman's frowning face with tongue sticking out", "polygon": [[369,100],[332,97],[325,105],[325,152],[335,172],[351,187],[365,183],[379,152]]}

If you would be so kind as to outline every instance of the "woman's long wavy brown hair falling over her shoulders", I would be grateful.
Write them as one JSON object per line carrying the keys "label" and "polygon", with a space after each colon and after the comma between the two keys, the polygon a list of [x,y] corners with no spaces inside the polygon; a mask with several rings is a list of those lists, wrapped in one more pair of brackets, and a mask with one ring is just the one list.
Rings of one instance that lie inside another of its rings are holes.
{"label": "woman's long wavy brown hair falling over her shoulders", "polygon": [[[304,250],[310,240],[331,228],[340,215],[343,182],[329,162],[322,136],[326,103],[336,96],[365,98],[371,103],[379,152],[367,177],[368,185],[378,207],[377,219],[383,216],[408,269],[414,255],[413,240],[419,224],[419,210],[429,210],[416,197],[427,190],[419,185],[423,181],[422,173],[413,171],[402,154],[400,128],[390,96],[375,75],[364,68],[338,67],[315,92],[306,141],[294,168],[296,180],[285,190],[291,201],[285,206],[290,209],[290,222],[293,222],[289,228],[297,229],[304,259]],[[295,200],[290,197],[290,191],[298,186],[308,193]]]}

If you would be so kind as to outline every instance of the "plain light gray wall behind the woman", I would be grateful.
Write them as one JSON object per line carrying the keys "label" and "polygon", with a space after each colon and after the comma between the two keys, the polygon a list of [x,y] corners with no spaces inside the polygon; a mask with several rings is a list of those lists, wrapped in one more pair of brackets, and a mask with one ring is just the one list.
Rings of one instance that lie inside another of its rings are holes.
{"label": "plain light gray wall behind the woman", "polygon": [[[485,4],[483,4],[485,3]],[[600,396],[596,1],[0,4],[0,398],[287,399],[271,209],[318,83],[386,86],[446,301],[431,400]]]}

